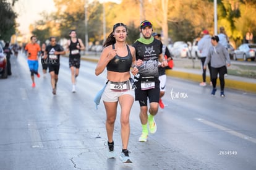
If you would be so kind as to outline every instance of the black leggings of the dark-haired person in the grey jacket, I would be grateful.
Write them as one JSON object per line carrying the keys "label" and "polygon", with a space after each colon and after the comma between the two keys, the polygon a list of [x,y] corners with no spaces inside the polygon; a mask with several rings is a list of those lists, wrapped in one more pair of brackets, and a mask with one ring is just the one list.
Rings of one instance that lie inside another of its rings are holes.
{"label": "black leggings of the dark-haired person in the grey jacket", "polygon": [[224,91],[224,85],[225,85],[225,80],[224,80],[224,74],[227,73],[227,67],[222,66],[219,68],[214,68],[211,67],[211,82],[213,83],[213,88],[216,88],[216,82],[219,74],[219,79],[220,79],[220,85],[221,85],[221,91]]}

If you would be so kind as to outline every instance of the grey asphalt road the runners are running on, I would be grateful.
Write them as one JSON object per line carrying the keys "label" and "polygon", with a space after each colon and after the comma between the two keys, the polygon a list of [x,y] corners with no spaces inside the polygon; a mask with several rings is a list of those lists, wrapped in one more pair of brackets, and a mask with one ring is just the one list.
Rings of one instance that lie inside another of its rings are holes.
{"label": "grey asphalt road the runners are running on", "polygon": [[[77,93],[68,59],[61,58],[57,95],[49,74],[32,88],[27,61],[12,58],[12,75],[0,80],[0,169],[256,169],[256,95],[168,77],[158,131],[140,143],[139,103],[130,114],[132,164],[119,153],[119,114],[114,129],[116,159],[106,158],[105,108],[93,98],[106,81],[95,62],[82,61]],[[41,73],[41,66],[40,66]],[[119,108],[118,108],[119,110]]]}

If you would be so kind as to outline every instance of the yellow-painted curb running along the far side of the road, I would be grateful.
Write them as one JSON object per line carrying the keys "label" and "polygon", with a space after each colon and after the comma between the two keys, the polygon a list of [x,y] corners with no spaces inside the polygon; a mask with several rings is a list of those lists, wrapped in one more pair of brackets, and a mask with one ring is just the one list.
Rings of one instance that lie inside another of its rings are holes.
{"label": "yellow-painted curb running along the far side of the road", "polygon": [[[98,62],[98,55],[83,55],[82,59],[87,61]],[[172,70],[166,70],[166,75],[171,77],[177,77],[186,80],[192,80],[194,82],[202,82],[202,72],[198,69],[184,69],[182,67],[175,67],[175,59],[174,59],[174,68]],[[207,70],[207,82],[210,83],[210,76]],[[220,85],[220,80],[217,80],[217,85]],[[225,87],[242,90],[246,92],[256,93],[256,79],[250,79],[246,77],[239,77],[234,75],[227,75],[225,77]]]}

